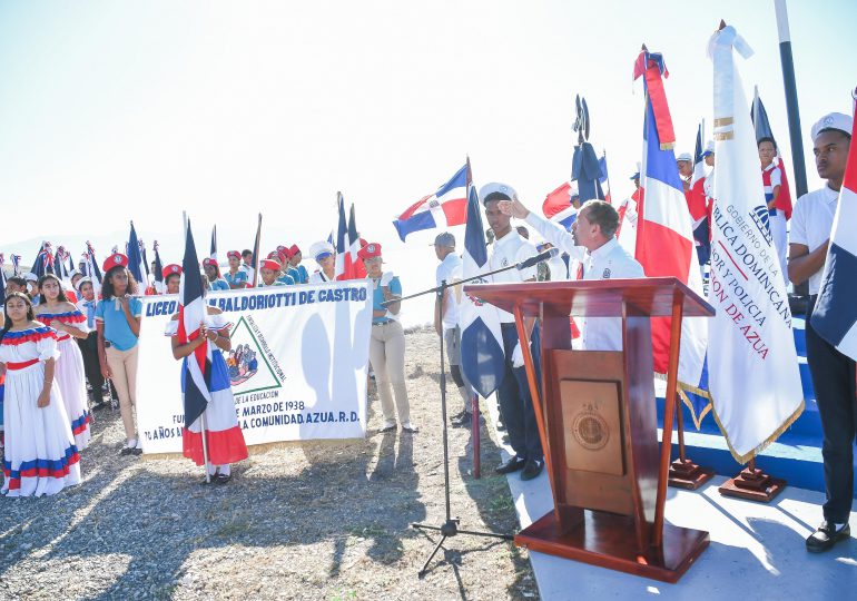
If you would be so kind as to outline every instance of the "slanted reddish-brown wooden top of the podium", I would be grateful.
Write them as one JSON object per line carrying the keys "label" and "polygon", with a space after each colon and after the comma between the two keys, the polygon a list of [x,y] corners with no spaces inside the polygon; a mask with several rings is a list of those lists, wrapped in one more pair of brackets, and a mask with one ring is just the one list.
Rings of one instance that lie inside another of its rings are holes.
{"label": "slanted reddish-brown wooden top of the podium", "polygon": [[584,317],[621,317],[623,306],[628,315],[664,317],[672,315],[676,295],[686,317],[715,315],[711,305],[674,277],[465,284],[464,293],[510,313],[520,305],[525,316],[533,317],[539,316],[542,305]]}

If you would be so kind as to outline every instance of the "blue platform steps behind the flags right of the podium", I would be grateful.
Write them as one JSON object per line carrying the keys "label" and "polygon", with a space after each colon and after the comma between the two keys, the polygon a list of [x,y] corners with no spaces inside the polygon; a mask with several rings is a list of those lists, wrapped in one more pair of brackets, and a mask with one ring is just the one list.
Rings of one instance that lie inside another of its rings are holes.
{"label": "blue platform steps behind the flags right of the podium", "polygon": [[[800,362],[800,380],[804,386],[805,410],[798,420],[782,435],[756,457],[756,465],[775,477],[786,480],[792,486],[814,491],[825,490],[821,462],[821,420],[818,416],[812,381],[806,363],[806,335],[804,319],[794,318],[795,345]],[[663,397],[658,397],[658,423],[663,424]],[[741,466],[732,459],[726,440],[713,416],[709,413],[697,432],[690,411],[681,404],[684,416],[684,446],[688,459],[718,474],[736,475]],[[660,435],[660,432],[659,432]],[[673,441],[677,436],[673,435]],[[672,456],[679,454],[678,444],[672,445]],[[855,454],[857,459],[857,454]],[[857,462],[855,463],[857,467]],[[857,481],[855,482],[857,497]]]}

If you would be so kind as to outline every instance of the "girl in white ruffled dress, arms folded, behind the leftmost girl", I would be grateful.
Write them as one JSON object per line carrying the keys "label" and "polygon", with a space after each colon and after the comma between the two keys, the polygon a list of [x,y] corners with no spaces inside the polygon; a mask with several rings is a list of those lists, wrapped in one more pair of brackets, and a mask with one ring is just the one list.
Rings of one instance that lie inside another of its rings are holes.
{"label": "girl in white ruffled dress, arms folded, behind the leftmost girl", "polygon": [[35,307],[36,318],[57,331],[59,358],[55,378],[71,423],[75,445],[82,451],[89,446],[89,407],[83,356],[73,338],[87,337],[87,318],[75,304],[69,303],[59,278],[53,274],[39,278],[39,299]]}

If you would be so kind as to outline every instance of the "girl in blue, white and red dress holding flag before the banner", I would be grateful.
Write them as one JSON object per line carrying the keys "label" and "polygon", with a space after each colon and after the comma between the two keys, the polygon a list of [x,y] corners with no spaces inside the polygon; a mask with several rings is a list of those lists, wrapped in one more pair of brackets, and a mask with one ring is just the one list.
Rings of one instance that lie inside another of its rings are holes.
{"label": "girl in blue, white and red dress holding flag before the banner", "polygon": [[[203,282],[203,297],[207,282]],[[194,460],[197,465],[205,465],[206,457],[203,453],[203,430],[200,423],[205,420],[205,442],[208,453],[208,475],[211,482],[225,484],[232,479],[229,464],[247,459],[247,445],[244,434],[238,426],[238,417],[235,412],[235,397],[229,382],[229,370],[223,354],[217,351],[232,351],[229,338],[232,324],[226,321],[223,312],[217,307],[208,306],[205,321],[199,328],[199,336],[181,344],[178,337],[178,314],[167,324],[165,334],[170,336],[173,343],[173,356],[183,361],[181,366],[181,394],[185,394],[185,374],[187,374],[187,359],[194,351],[203,344],[210,343],[215,349],[211,353],[211,401],[190,427],[185,428],[181,436],[183,454]],[[205,482],[208,482],[206,480]]]}

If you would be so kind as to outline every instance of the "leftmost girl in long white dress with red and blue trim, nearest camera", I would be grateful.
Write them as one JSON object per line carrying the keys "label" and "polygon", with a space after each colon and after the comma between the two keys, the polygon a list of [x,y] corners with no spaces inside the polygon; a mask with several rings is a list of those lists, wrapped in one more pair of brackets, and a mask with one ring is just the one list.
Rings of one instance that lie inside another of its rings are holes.
{"label": "leftmost girl in long white dress with red and blue trim, nearest camera", "polygon": [[53,380],[57,333],[35,321],[32,303],[12,293],[3,304],[0,363],[6,365],[7,496],[56,494],[80,482],[80,455]]}

